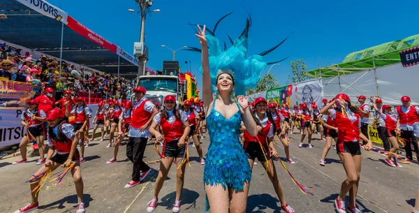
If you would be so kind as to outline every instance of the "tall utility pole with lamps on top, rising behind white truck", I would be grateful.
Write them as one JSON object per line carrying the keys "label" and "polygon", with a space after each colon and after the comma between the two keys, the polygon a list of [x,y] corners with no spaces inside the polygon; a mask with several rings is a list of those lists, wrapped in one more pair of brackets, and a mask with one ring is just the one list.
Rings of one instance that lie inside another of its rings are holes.
{"label": "tall utility pole with lamps on top, rising behind white truck", "polygon": [[[149,10],[149,8],[153,5],[153,1],[152,0],[135,0],[136,3],[138,3],[138,5],[140,6],[140,11],[135,11],[133,9],[128,9],[128,12],[137,12],[140,13],[141,15],[141,31],[140,31],[140,43],[142,43],[142,45],[145,47],[144,45],[144,31],[145,31],[145,17],[147,15],[147,13],[159,13],[160,10],[156,9],[156,10]],[[144,48],[143,47],[143,51]],[[142,75],[145,75],[145,67],[147,64],[147,59],[142,56],[138,57],[138,61],[140,61],[140,66],[138,66],[138,75],[137,75],[137,86],[138,83],[140,82],[140,73],[142,71]]]}

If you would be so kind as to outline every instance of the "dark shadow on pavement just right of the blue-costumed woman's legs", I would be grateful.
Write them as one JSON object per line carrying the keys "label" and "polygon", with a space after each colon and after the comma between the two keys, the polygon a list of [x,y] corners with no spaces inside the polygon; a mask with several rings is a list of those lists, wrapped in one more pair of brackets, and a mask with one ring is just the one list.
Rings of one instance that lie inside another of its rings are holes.
{"label": "dark shadow on pavement just right of the blue-costumed woman's legs", "polygon": [[279,200],[270,194],[263,193],[260,195],[251,195],[247,197],[247,213],[262,213],[267,209],[274,210],[274,213],[281,212],[278,206]]}

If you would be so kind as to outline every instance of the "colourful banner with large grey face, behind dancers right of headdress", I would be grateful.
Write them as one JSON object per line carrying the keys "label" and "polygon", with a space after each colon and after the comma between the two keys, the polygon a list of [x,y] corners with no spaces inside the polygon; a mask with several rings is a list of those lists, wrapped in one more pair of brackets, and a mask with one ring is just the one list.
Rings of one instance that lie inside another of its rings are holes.
{"label": "colourful banner with large grey face, behind dancers right of headdress", "polygon": [[[321,106],[323,98],[321,79],[307,80],[285,87],[279,87],[266,91],[266,100],[278,104],[286,103],[289,108],[300,103],[311,105],[314,101]],[[250,98],[252,99],[252,98]]]}

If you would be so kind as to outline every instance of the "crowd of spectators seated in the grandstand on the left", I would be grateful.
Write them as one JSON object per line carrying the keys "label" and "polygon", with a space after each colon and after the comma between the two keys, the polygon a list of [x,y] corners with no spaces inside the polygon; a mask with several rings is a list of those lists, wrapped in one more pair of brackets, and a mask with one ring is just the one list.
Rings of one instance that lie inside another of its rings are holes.
{"label": "crowd of spectators seated in the grandstand on the left", "polygon": [[[0,43],[0,80],[28,82],[34,88],[34,97],[43,89],[52,87],[57,100],[64,91],[72,91],[74,96],[93,98],[125,99],[131,96],[133,82],[115,75],[76,70],[74,64],[41,56],[34,59],[29,52],[21,54],[20,49],[10,50],[6,43]],[[61,67],[62,66],[62,67]],[[60,79],[61,70],[61,81]],[[90,94],[89,94],[90,93]]]}

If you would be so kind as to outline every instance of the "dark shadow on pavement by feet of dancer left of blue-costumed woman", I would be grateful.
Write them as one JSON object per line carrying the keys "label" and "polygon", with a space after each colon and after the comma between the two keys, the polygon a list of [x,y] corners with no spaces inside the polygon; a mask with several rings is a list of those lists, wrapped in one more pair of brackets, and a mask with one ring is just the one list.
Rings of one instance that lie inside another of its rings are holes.
{"label": "dark shadow on pavement by feet of dancer left of blue-costumed woman", "polygon": [[[183,189],[182,190],[182,197],[180,200],[182,200],[181,205],[186,206],[184,210],[189,209],[196,209],[196,199],[199,198],[199,194],[196,191],[191,191],[189,189]],[[167,210],[171,210],[173,207],[173,204],[175,203],[176,199],[176,191],[173,191],[169,193],[168,195],[161,198],[161,202],[159,205],[166,207]]]}

